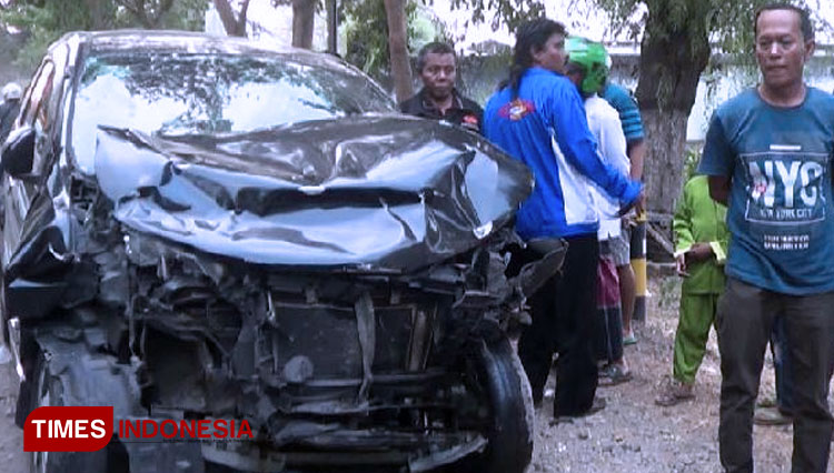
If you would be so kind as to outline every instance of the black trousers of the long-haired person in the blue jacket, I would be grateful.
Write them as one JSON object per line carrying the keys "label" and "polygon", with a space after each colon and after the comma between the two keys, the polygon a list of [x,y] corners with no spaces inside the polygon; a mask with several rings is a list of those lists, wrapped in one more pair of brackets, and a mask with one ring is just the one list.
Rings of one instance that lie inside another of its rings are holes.
{"label": "black trousers of the long-haired person in the blue jacket", "polygon": [[533,324],[518,341],[518,355],[540,401],[553,353],[556,365],[554,415],[579,415],[594,403],[597,366],[594,356],[596,330],[596,234],[566,239],[568,250],[559,274],[534,294],[528,303]]}

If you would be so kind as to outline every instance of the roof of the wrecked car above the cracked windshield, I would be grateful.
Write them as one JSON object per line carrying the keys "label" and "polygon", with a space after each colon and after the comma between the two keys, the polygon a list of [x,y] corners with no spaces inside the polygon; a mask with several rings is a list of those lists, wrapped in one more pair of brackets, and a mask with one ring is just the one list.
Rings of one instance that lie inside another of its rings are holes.
{"label": "roof of the wrecked car above the cracked windshield", "polygon": [[[222,37],[195,31],[176,30],[109,30],[75,31],[64,34],[61,43],[81,43],[92,52],[181,51],[186,53],[227,53],[277,56],[302,64],[358,72],[341,59],[300,48],[255,42],[246,38]],[[51,49],[51,48],[50,48]]]}

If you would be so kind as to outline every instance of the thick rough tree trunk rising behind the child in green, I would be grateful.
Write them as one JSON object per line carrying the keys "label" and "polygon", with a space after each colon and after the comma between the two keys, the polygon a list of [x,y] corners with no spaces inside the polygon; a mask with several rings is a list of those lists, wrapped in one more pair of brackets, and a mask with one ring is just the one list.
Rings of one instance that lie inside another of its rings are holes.
{"label": "thick rough tree trunk rising behind the child in green", "polygon": [[696,20],[667,24],[664,30],[666,2],[657,4],[661,7],[651,10],[646,20],[637,101],[646,128],[643,177],[647,209],[671,215],[683,184],[686,121],[701,72],[709,60],[709,44],[703,28],[689,27],[697,24]]}

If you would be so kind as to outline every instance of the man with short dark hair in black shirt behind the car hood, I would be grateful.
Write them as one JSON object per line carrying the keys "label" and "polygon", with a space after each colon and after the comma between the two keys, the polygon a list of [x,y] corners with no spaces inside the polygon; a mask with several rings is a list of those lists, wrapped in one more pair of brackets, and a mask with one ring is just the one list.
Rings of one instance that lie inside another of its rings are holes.
{"label": "man with short dark hair in black shirt behind the car hood", "polygon": [[484,110],[455,89],[457,58],[455,50],[443,42],[431,42],[417,54],[417,70],[423,89],[399,104],[403,113],[446,120],[480,132]]}

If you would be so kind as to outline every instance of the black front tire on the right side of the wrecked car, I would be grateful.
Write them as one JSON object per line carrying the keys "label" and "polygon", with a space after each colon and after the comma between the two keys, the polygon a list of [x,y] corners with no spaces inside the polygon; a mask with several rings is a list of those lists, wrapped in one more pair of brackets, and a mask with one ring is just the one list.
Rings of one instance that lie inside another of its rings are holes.
{"label": "black front tire on the right side of the wrecked car", "polygon": [[533,457],[533,395],[520,360],[506,336],[481,341],[474,358],[490,409],[486,451],[478,472],[524,473]]}

